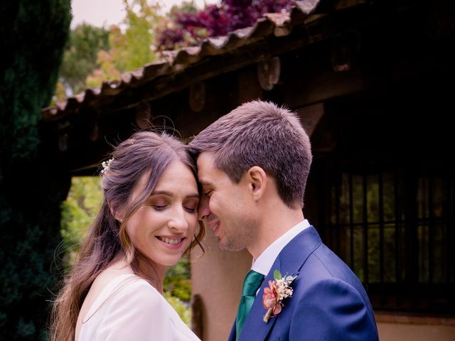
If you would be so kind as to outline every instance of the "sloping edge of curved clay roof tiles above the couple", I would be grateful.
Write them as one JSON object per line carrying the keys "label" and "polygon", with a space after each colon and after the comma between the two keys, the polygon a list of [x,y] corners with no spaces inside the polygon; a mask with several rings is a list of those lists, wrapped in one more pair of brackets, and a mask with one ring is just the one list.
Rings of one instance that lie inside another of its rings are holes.
{"label": "sloping edge of curved clay roof tiles above the couple", "polygon": [[[81,107],[96,108],[105,102],[106,99],[117,96],[124,90],[154,82],[154,80],[162,76],[176,75],[191,67],[191,65],[195,65],[205,58],[210,58],[210,56],[230,53],[268,36],[287,36],[291,33],[293,26],[311,23],[311,21],[325,16],[328,7],[331,7],[329,9],[331,11],[364,2],[352,0],[296,1],[296,6],[291,12],[268,13],[263,18],[259,18],[254,26],[233,31],[228,36],[207,38],[199,46],[165,51],[164,60],[144,65],[131,72],[125,72],[120,80],[107,80],[102,83],[101,87],[87,89],[64,102],[58,102],[53,107],[44,108],[42,110],[42,119],[44,121],[53,121],[65,117],[71,112],[76,112]],[[328,4],[332,4],[332,6]],[[323,11],[319,11],[321,8],[323,8]],[[165,90],[162,95],[167,93],[168,90]],[[159,94],[156,97],[159,97]]]}

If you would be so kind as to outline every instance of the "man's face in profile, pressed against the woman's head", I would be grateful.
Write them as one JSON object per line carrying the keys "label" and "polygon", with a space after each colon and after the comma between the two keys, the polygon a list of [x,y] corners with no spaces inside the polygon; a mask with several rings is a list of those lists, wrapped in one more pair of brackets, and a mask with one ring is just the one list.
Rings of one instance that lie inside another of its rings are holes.
{"label": "man's face in profile, pressed against the woman's head", "polygon": [[218,238],[220,249],[240,251],[249,247],[255,240],[255,220],[247,181],[242,178],[233,183],[215,167],[211,152],[198,156],[198,178],[202,185],[199,219]]}

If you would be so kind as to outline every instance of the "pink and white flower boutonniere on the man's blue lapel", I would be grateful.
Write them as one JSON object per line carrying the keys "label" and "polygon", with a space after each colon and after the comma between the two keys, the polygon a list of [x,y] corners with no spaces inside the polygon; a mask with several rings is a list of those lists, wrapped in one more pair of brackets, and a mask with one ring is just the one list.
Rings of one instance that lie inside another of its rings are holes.
{"label": "pink and white flower boutonniere on the man's blue lapel", "polygon": [[277,316],[281,313],[282,301],[284,298],[291,297],[292,293],[294,293],[291,283],[296,279],[297,275],[282,276],[278,270],[274,271],[274,281],[269,281],[269,287],[264,288],[264,296],[262,296],[262,305],[264,305],[264,309],[267,309],[263,319],[265,323],[269,322],[272,314]]}

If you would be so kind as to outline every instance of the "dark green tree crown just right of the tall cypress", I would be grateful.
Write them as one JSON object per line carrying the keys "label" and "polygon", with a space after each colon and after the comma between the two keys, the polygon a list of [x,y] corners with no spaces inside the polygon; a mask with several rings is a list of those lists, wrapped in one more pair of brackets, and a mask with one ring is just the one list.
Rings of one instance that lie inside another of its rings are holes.
{"label": "dark green tree crown just right of the tall cypress", "polygon": [[109,50],[109,31],[105,28],[82,23],[70,34],[60,67],[60,81],[73,93],[85,89],[85,79],[100,64],[97,55],[100,50]]}

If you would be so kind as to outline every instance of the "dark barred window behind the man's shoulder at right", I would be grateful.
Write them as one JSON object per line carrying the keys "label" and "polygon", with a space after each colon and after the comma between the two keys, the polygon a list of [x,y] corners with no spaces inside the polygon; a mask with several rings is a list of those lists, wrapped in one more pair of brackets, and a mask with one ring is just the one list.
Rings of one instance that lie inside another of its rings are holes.
{"label": "dark barred window behind the man's shoulder at right", "polygon": [[325,242],[373,307],[455,313],[454,172],[378,161],[330,168]]}

